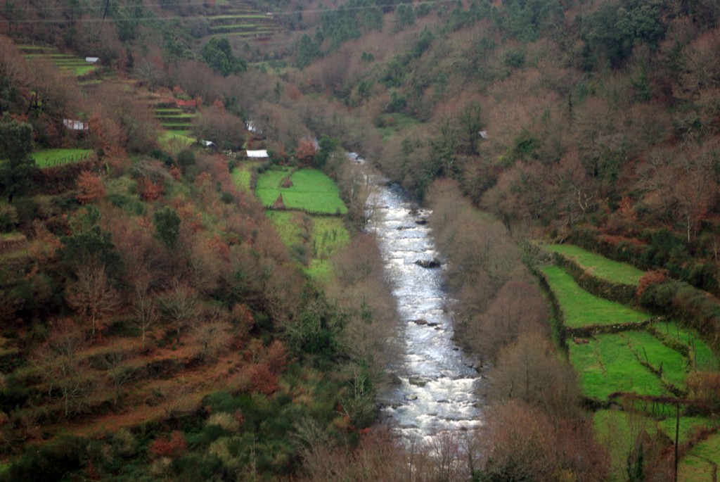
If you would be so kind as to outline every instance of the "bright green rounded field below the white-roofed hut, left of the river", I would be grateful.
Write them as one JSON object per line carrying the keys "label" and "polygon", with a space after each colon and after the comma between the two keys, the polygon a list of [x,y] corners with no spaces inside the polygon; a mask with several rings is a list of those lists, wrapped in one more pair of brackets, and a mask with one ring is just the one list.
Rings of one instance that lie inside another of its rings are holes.
{"label": "bright green rounded field below the white-roofed hut, left of the river", "polygon": [[292,187],[281,187],[289,170],[271,169],[258,177],[255,193],[265,206],[271,206],[282,194],[288,209],[307,213],[346,214],[347,207],[340,199],[338,187],[332,179],[316,169],[294,171]]}

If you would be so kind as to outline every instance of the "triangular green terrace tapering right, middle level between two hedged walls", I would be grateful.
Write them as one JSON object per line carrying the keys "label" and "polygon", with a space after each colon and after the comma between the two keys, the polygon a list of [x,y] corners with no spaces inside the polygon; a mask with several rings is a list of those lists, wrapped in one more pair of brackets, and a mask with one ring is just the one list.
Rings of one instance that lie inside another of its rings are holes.
{"label": "triangular green terrace tapering right, middle level between two hedged walls", "polygon": [[636,323],[649,318],[620,303],[604,300],[591,295],[577,285],[562,268],[546,266],[543,269],[550,288],[562,308],[565,326],[581,328],[593,325],[613,325],[616,323]]}

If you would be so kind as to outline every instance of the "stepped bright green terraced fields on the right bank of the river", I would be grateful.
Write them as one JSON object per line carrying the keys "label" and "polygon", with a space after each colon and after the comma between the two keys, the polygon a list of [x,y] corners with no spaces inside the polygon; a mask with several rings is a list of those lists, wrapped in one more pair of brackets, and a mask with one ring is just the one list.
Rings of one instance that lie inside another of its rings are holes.
{"label": "stepped bright green terraced fields on the right bank of the river", "polygon": [[[605,280],[634,285],[642,275],[633,267],[575,246],[554,246],[550,250],[571,257],[585,272]],[[684,398],[685,379],[690,372],[717,370],[717,355],[693,331],[672,321],[638,325],[636,321],[649,316],[587,293],[560,267],[546,266],[542,272],[557,299],[567,328],[595,326],[611,331],[588,339],[567,340],[570,362],[579,375],[583,396],[599,403],[611,401],[611,395],[616,392]],[[667,440],[675,438],[675,406],[672,403],[636,401],[634,409],[639,413],[616,409],[595,412],[595,433],[611,455],[611,481],[626,480],[627,454],[633,449],[639,433],[647,432],[652,436],[662,432]],[[698,427],[718,427],[720,424],[718,419],[683,414],[682,407],[680,414],[681,444],[687,442]],[[680,461],[678,480],[713,480],[718,460],[720,434],[715,434],[693,447]]]}

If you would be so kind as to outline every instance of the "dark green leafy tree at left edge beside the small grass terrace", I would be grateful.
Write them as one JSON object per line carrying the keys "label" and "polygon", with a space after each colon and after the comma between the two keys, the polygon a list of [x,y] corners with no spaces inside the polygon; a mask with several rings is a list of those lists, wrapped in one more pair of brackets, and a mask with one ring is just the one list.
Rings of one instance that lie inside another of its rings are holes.
{"label": "dark green leafy tree at left edge beside the small grass terrace", "polygon": [[31,152],[32,126],[5,113],[0,120],[0,189],[11,204],[15,195],[32,187],[37,167]]}

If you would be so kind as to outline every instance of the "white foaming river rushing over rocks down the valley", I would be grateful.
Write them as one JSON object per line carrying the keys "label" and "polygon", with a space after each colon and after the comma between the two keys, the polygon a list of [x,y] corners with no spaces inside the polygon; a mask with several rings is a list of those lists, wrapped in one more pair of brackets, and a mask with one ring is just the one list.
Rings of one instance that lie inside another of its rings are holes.
{"label": "white foaming river rushing over rocks down the valley", "polygon": [[379,396],[382,413],[404,438],[428,439],[480,425],[481,376],[453,340],[442,267],[427,211],[416,210],[400,187],[378,182],[369,198],[369,230],[377,235],[400,313],[403,356],[390,367],[397,383]]}

